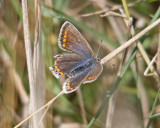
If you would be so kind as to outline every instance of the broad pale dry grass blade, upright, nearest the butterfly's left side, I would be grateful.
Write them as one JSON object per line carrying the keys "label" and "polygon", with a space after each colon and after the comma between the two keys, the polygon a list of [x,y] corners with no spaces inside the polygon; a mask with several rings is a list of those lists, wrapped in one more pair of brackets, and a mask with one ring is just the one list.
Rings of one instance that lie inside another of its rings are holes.
{"label": "broad pale dry grass blade, upright, nearest the butterfly's left side", "polygon": [[[33,46],[33,71],[34,71],[34,90],[32,91],[35,95],[32,99],[34,102],[33,112],[39,109],[45,102],[45,89],[44,89],[44,61],[41,53],[41,5],[40,1],[35,0],[35,40]],[[35,102],[36,101],[36,102]],[[33,103],[32,102],[32,103]],[[37,114],[33,118],[33,124],[37,128],[37,124],[42,116],[42,112]],[[40,128],[43,128],[43,122],[40,123]]]}

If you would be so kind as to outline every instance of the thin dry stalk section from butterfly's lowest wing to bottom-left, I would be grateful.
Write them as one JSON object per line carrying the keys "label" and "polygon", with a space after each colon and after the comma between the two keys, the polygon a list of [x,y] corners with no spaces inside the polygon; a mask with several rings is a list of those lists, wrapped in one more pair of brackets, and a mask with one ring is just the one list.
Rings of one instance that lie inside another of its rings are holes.
{"label": "thin dry stalk section from butterfly's lowest wing to bottom-left", "polygon": [[50,100],[48,103],[43,105],[41,108],[39,108],[36,112],[34,112],[32,115],[21,121],[18,125],[16,125],[14,128],[20,127],[22,124],[24,124],[27,120],[31,119],[33,116],[35,116],[37,113],[45,109],[46,107],[50,106],[56,99],[58,99],[60,96],[64,94],[64,91],[62,90],[56,97],[54,97],[52,100]]}

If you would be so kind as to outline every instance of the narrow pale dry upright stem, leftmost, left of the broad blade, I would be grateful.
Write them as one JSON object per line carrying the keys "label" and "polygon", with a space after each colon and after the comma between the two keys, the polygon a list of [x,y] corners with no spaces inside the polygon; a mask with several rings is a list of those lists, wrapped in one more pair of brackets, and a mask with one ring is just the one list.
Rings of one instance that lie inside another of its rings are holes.
{"label": "narrow pale dry upright stem, leftmost, left of the broad blade", "polygon": [[[33,72],[33,57],[32,57],[32,46],[30,41],[30,31],[29,31],[29,20],[28,20],[28,9],[27,9],[27,0],[22,0],[22,13],[23,13],[23,30],[24,30],[24,42],[25,50],[27,57],[27,67],[28,67],[28,76],[29,76],[29,86],[30,86],[30,111],[34,111],[34,72]],[[33,122],[30,123],[29,127],[34,125]],[[34,127],[33,127],[34,128]]]}

